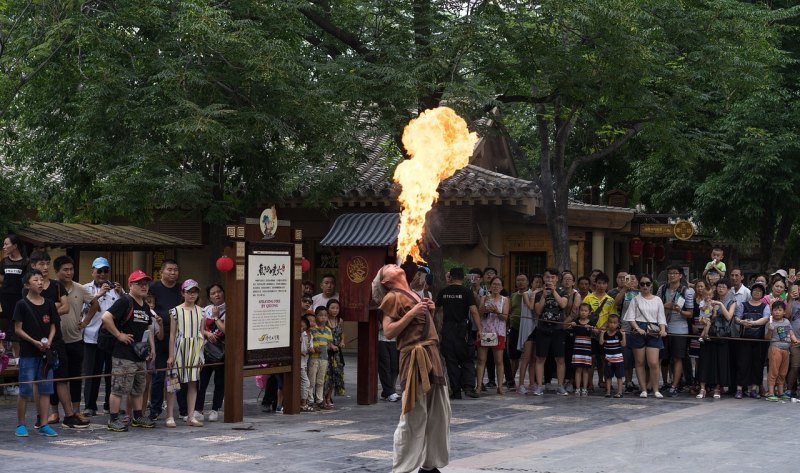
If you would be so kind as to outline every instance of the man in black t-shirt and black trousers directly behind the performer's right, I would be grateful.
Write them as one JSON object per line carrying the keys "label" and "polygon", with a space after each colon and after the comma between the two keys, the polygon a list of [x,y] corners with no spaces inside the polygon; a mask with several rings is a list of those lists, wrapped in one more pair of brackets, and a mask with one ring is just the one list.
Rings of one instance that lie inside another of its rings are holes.
{"label": "man in black t-shirt and black trousers directly behind the performer's right", "polygon": [[[450,270],[450,285],[439,292],[436,310],[441,311],[442,332],[440,351],[447,365],[451,399],[461,399],[463,390],[476,398],[475,392],[475,339],[470,332],[472,317],[477,337],[481,336],[481,318],[472,290],[464,287],[464,268]],[[438,314],[437,314],[438,315]]]}

